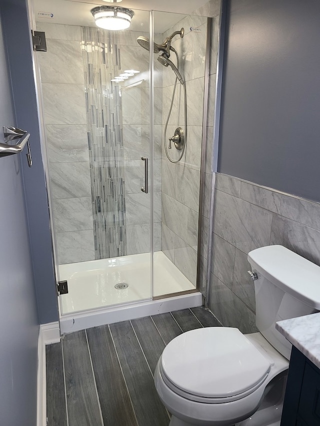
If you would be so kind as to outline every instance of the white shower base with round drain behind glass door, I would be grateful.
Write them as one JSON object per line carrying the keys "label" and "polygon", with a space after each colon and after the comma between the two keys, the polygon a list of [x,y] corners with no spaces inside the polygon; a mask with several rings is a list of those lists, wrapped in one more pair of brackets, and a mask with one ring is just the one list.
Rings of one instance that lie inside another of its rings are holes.
{"label": "white shower base with round drain behind glass door", "polygon": [[[61,333],[202,304],[201,293],[162,252],[154,253],[153,297],[192,293],[151,300],[149,253],[60,265],[59,280],[67,280],[69,291],[59,296]],[[128,287],[115,289],[119,283]]]}

